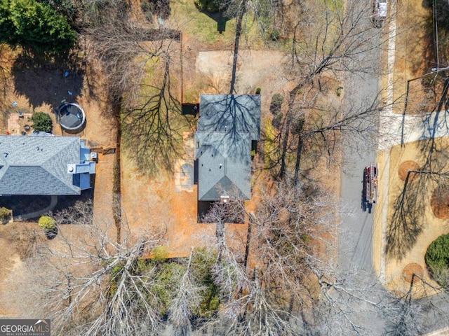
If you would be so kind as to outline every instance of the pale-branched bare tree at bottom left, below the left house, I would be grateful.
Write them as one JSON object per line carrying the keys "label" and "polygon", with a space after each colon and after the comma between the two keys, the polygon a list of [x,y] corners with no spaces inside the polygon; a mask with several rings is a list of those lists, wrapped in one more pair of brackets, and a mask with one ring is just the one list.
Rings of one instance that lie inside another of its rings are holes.
{"label": "pale-branched bare tree at bottom left, below the left house", "polygon": [[142,267],[140,258],[161,244],[163,232],[134,237],[122,223],[117,243],[115,225],[91,223],[83,207],[77,204],[72,212],[79,224],[60,225],[57,244],[30,260],[42,288],[39,312],[53,318],[60,335],[159,335],[155,268]]}

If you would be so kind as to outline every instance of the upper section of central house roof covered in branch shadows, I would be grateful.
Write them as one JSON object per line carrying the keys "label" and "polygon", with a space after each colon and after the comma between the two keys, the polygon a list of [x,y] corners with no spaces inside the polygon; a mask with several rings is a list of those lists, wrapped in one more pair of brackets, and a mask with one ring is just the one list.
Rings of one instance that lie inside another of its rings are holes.
{"label": "upper section of central house roof covered in branch shadows", "polygon": [[197,130],[249,132],[260,139],[260,94],[201,94]]}

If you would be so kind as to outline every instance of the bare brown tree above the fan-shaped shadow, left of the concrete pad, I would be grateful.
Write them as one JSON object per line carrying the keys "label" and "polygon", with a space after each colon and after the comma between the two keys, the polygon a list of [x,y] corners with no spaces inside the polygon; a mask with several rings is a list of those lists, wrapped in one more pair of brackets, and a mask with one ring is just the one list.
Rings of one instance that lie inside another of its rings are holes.
{"label": "bare brown tree above the fan-shaped shadow, left of the concrete pad", "polygon": [[164,41],[179,41],[180,38],[179,31],[135,25],[126,8],[121,6],[109,8],[102,25],[91,27],[86,32],[92,42],[90,52],[104,68],[109,96],[118,100],[124,94],[126,102],[135,102],[139,97],[142,78],[157,65],[151,62],[152,59],[170,49],[170,43]]}

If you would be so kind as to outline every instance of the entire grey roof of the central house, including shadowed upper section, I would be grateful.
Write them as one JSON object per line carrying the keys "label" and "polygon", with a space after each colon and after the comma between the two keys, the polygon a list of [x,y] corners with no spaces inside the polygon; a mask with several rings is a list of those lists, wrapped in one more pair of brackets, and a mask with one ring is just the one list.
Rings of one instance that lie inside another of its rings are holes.
{"label": "entire grey roof of the central house, including shadowed upper section", "polygon": [[260,139],[260,95],[201,94],[199,113],[198,200],[220,200],[235,191],[249,200],[251,141]]}

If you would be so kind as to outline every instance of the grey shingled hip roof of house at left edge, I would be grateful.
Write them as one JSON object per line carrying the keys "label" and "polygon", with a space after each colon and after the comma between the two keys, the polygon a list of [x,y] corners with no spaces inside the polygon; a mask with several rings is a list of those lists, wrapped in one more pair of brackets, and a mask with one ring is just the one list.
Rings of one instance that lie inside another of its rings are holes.
{"label": "grey shingled hip roof of house at left edge", "polygon": [[79,195],[67,173],[78,162],[79,137],[0,136],[0,195]]}

